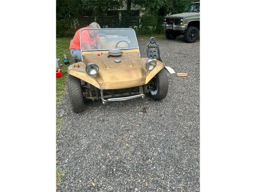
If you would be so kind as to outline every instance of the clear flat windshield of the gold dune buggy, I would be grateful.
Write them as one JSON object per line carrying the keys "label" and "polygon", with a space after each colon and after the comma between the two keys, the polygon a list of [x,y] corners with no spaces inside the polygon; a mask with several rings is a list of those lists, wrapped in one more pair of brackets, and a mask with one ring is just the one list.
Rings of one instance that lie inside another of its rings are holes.
{"label": "clear flat windshield of the gold dune buggy", "polygon": [[82,51],[138,48],[135,31],[129,28],[84,28],[80,31],[80,43]]}

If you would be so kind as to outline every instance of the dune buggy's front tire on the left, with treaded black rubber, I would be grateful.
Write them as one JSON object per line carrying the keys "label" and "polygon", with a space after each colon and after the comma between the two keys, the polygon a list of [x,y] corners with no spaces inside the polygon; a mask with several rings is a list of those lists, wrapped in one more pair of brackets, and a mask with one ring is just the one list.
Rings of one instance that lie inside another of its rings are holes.
{"label": "dune buggy's front tire on the left, with treaded black rubber", "polygon": [[72,75],[68,75],[68,95],[73,111],[76,113],[84,111],[81,80]]}

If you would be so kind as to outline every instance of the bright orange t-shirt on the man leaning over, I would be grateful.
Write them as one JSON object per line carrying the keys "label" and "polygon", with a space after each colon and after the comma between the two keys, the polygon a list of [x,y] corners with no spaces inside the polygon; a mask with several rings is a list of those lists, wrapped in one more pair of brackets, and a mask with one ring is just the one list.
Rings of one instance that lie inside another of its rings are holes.
{"label": "bright orange t-shirt on the man leaning over", "polygon": [[[76,32],[70,46],[69,49],[80,49],[80,31],[82,29],[88,29],[89,26],[87,27],[83,27],[78,29],[78,31]],[[96,40],[99,38],[99,35],[97,35],[95,38],[91,38],[90,34],[89,34],[89,30],[83,30],[82,31],[82,42],[91,45],[91,48],[94,48],[94,44],[96,44]]]}

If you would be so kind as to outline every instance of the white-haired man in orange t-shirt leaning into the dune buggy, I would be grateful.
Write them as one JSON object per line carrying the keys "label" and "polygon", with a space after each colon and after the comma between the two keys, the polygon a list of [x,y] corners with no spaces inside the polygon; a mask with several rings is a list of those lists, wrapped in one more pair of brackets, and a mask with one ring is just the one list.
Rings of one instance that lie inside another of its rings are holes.
{"label": "white-haired man in orange t-shirt leaning into the dune buggy", "polygon": [[[76,34],[72,42],[70,43],[70,54],[76,60],[82,61],[81,50],[80,50],[80,31],[82,29],[95,29],[100,28],[100,25],[96,22],[91,23],[87,27],[80,28]],[[101,49],[101,44],[99,40],[99,30],[83,30],[82,31],[82,50],[92,50],[94,46],[97,49]]]}

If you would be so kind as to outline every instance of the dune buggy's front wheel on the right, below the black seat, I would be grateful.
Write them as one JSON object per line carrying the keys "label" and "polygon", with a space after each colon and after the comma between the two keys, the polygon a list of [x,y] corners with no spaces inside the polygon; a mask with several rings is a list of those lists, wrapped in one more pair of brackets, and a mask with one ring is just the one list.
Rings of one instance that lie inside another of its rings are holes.
{"label": "dune buggy's front wheel on the right, below the black seat", "polygon": [[164,68],[150,80],[150,87],[153,90],[150,90],[149,96],[153,100],[159,101],[166,97],[168,93],[168,77]]}

